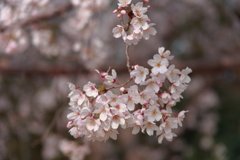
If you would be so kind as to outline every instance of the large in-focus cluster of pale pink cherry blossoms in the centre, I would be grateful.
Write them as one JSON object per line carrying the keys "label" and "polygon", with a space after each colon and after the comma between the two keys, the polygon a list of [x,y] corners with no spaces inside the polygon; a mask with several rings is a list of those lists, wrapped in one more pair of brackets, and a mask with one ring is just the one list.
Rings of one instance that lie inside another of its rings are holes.
{"label": "large in-focus cluster of pale pink cherry blossoms in the centre", "polygon": [[[103,81],[100,86],[88,82],[81,90],[69,83],[72,112],[67,115],[70,120],[67,127],[70,134],[75,138],[84,136],[87,140],[106,141],[117,139],[117,129],[121,126],[132,127],[133,134],[146,131],[152,136],[156,132],[159,143],[163,138],[171,141],[176,136],[172,129],[182,126],[187,112],[175,114],[172,107],[183,98],[181,94],[191,81],[188,76],[191,69],[180,71],[169,65],[171,59],[170,51],[159,48],[158,54],[148,60],[151,69],[132,67],[130,80],[134,79],[135,84],[129,88],[123,87],[126,83],[118,84],[115,70],[112,75],[109,71],[97,71]],[[114,88],[120,89],[112,91]]]}

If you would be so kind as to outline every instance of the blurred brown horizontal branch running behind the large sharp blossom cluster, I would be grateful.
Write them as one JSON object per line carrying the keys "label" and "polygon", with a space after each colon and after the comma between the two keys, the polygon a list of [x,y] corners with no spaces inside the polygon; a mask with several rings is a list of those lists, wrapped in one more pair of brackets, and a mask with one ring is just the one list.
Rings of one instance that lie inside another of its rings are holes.
{"label": "blurred brown horizontal branch running behind the large sharp blossom cluster", "polygon": [[[1,59],[1,57],[0,57]],[[3,59],[3,58],[2,58]],[[212,59],[197,59],[197,60],[185,60],[172,61],[172,64],[179,69],[190,67],[193,70],[192,74],[215,74],[225,71],[226,69],[240,69],[239,63],[240,56],[232,56],[227,58],[220,58],[218,60]],[[76,74],[91,74],[91,72],[84,67],[84,65],[66,65],[64,63],[40,65],[35,63],[35,66],[28,67],[24,64],[11,65],[8,61],[0,61],[0,74],[2,75],[19,75],[25,76],[57,76],[57,75],[76,75]],[[114,64],[112,64],[114,65]],[[114,66],[118,74],[126,74],[126,69],[122,65]]]}

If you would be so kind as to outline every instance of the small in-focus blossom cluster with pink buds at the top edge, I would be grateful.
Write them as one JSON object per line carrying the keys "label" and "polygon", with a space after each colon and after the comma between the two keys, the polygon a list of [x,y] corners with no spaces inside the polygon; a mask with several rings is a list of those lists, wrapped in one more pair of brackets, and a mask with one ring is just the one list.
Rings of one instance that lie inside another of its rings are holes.
{"label": "small in-focus blossom cluster with pink buds at the top edge", "polygon": [[122,37],[128,45],[136,45],[142,37],[148,40],[150,35],[157,33],[156,29],[153,28],[155,24],[149,24],[150,19],[145,14],[150,6],[144,7],[143,4],[148,2],[149,0],[144,0],[134,5],[131,4],[131,0],[119,0],[118,9],[114,10],[113,13],[119,13],[119,18],[122,18],[123,15],[128,15],[129,18],[126,24],[122,19],[122,25],[117,25],[113,29],[112,32],[115,38]]}

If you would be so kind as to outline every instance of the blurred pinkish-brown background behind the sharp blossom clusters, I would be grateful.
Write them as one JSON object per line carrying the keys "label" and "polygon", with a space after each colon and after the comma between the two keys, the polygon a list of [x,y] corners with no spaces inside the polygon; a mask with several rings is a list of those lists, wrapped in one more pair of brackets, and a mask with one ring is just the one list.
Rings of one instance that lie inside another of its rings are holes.
{"label": "blurred pinkish-brown background behind the sharp blossom clusters", "polygon": [[[133,2],[137,2],[136,0]],[[131,46],[131,64],[164,46],[192,82],[173,110],[189,110],[172,142],[119,130],[77,160],[240,160],[240,1],[150,0],[157,35]],[[85,144],[66,128],[67,82],[100,83],[95,69],[128,79],[116,0],[0,1],[0,159],[67,160],[61,144]],[[74,142],[73,142],[74,141]],[[70,145],[71,146],[71,145]],[[65,146],[66,147],[66,146]]]}

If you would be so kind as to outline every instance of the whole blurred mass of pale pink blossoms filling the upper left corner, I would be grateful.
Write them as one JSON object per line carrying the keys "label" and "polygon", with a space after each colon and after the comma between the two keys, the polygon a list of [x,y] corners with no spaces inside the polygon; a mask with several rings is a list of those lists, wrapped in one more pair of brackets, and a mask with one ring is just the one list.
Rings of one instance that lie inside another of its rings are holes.
{"label": "whole blurred mass of pale pink blossoms filling the upper left corner", "polygon": [[[109,0],[0,0],[0,54],[37,50],[57,57],[74,51],[81,54],[82,62],[99,65],[106,53],[104,41],[97,36],[92,38],[100,27],[95,15],[102,14],[108,6]],[[49,21],[56,17],[58,21]]]}

